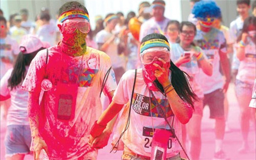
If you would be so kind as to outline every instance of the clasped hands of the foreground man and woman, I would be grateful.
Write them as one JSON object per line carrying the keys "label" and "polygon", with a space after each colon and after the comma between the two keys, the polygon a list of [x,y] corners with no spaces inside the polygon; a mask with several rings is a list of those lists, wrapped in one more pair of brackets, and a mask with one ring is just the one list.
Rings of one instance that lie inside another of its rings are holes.
{"label": "clasped hands of the foreground man and woman", "polygon": [[98,137],[92,137],[90,135],[89,145],[95,149],[102,149],[107,146],[110,135],[111,131],[103,131]]}

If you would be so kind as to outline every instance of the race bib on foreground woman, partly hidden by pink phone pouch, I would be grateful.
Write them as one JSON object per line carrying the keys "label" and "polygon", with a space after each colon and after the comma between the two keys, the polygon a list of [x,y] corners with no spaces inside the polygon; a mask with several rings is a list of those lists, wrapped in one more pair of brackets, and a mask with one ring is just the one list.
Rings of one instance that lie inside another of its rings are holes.
{"label": "race bib on foreground woman, partly hidden by pink phone pouch", "polygon": [[[175,131],[174,129],[172,129],[172,131],[171,129],[166,129],[166,130],[170,131],[171,133]],[[144,147],[144,150],[149,153],[151,152],[151,143],[152,143],[153,134],[154,134],[154,131],[152,128],[143,127],[143,139],[144,139],[143,147]],[[174,140],[175,140],[175,135],[171,134],[167,143],[167,153],[171,152],[172,142]]]}

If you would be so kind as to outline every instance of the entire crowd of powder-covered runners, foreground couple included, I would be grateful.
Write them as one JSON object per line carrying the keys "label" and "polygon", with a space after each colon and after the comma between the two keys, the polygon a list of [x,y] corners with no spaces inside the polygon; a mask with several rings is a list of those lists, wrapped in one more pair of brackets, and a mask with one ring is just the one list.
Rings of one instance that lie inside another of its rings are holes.
{"label": "entire crowd of powder-covered runners, foreground couple included", "polygon": [[35,22],[27,9],[9,21],[1,10],[6,160],[96,160],[112,133],[122,160],[199,160],[205,106],[215,120],[213,158],[226,160],[230,83],[241,113],[239,153],[255,147],[248,134],[256,123],[256,1],[236,0],[229,28],[214,1],[190,3],[187,21],[164,17],[165,1],[154,0],[140,3],[138,15],[98,15],[94,30],[75,1],[57,20],[47,8]]}

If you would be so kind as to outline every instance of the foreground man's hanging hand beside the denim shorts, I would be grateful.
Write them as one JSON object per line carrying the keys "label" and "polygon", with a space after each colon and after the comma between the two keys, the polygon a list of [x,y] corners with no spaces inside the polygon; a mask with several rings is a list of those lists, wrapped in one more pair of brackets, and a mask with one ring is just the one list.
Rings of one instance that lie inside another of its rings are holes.
{"label": "foreground man's hanging hand beside the denim shorts", "polygon": [[45,141],[41,137],[36,136],[34,139],[34,151],[33,151],[34,160],[39,160],[39,154],[42,149],[44,149],[47,155],[49,155],[48,148]]}

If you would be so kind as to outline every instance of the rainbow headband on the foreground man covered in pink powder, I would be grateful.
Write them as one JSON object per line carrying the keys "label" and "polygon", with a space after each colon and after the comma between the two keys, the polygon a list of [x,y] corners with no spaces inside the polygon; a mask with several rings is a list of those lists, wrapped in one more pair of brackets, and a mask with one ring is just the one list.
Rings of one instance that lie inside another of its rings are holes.
{"label": "rainbow headband on the foreground man covered in pink powder", "polygon": [[62,23],[64,22],[64,20],[71,19],[71,18],[84,18],[88,20],[88,22],[90,22],[89,15],[87,13],[85,13],[84,11],[77,11],[77,10],[64,12],[63,14],[60,15],[60,17],[58,18],[58,21]]}

